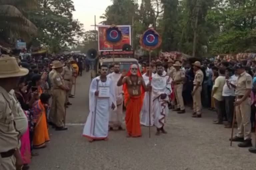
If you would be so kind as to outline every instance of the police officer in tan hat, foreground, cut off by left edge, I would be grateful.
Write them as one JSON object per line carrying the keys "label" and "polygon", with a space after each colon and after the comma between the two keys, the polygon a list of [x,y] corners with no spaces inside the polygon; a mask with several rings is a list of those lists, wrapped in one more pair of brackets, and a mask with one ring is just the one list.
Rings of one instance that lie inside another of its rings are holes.
{"label": "police officer in tan hat, foreground, cut off by left edge", "polygon": [[19,83],[19,77],[28,74],[20,68],[14,57],[0,58],[0,169],[21,169],[23,161],[18,149],[20,132],[16,128],[14,114],[17,103],[9,92]]}

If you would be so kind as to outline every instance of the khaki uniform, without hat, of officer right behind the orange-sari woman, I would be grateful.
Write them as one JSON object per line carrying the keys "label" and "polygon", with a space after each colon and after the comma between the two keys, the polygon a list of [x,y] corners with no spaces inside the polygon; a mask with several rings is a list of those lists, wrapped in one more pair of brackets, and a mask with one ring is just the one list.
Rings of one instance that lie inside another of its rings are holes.
{"label": "khaki uniform, without hat, of officer right behind the orange-sari woman", "polygon": [[60,85],[65,85],[64,79],[57,71],[52,76],[52,105],[50,115],[51,120],[57,127],[64,127],[66,91],[60,89]]}

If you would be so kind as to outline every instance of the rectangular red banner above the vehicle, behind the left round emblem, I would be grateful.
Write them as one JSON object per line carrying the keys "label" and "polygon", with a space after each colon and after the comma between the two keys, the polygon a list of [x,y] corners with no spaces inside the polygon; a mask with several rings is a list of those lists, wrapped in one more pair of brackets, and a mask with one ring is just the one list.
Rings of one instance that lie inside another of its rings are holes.
{"label": "rectangular red banner above the vehicle, behind the left round emblem", "polygon": [[[102,25],[99,26],[98,29],[98,46],[99,51],[113,51],[113,45],[108,42],[109,40],[115,40],[118,39],[119,33],[118,30],[110,30],[110,25]],[[122,41],[118,44],[114,45],[115,51],[122,51],[124,44],[130,44],[131,45],[131,26],[129,25],[121,25],[121,26],[115,26],[117,27],[121,33],[122,33]]]}

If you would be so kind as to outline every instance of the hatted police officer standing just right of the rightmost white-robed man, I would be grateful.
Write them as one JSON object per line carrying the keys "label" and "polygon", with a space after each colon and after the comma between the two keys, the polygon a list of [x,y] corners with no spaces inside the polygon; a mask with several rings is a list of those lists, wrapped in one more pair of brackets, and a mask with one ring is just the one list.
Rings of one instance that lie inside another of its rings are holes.
{"label": "hatted police officer standing just right of the rightmost white-robed man", "polygon": [[176,61],[175,64],[173,64],[173,66],[176,70],[175,74],[173,75],[174,93],[177,101],[177,109],[175,111],[178,111],[178,114],[183,114],[186,112],[182,97],[185,72],[183,71],[183,69],[181,69],[181,63],[179,61]]}

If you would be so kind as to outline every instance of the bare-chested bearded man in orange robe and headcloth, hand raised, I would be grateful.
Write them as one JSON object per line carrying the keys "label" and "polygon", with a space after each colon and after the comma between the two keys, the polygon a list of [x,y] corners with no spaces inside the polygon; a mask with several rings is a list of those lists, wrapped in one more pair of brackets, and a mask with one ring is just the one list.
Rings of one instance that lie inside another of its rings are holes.
{"label": "bare-chested bearded man in orange robe and headcloth, hand raised", "polygon": [[151,90],[149,85],[145,85],[139,67],[132,64],[128,73],[123,71],[117,86],[124,89],[124,102],[126,106],[125,123],[127,137],[140,137],[140,111],[143,105],[144,92]]}

